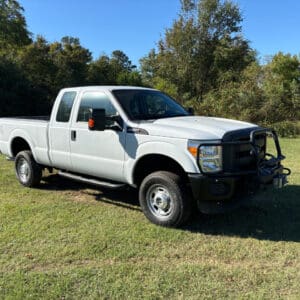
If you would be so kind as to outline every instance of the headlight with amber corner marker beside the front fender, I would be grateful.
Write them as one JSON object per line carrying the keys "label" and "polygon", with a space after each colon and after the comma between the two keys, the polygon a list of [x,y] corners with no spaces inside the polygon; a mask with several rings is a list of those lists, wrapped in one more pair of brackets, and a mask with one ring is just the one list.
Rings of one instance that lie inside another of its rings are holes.
{"label": "headlight with amber corner marker beside the front fender", "polygon": [[188,151],[196,159],[198,158],[199,166],[204,173],[217,173],[222,171],[222,146],[202,145],[199,147],[199,142],[189,141]]}

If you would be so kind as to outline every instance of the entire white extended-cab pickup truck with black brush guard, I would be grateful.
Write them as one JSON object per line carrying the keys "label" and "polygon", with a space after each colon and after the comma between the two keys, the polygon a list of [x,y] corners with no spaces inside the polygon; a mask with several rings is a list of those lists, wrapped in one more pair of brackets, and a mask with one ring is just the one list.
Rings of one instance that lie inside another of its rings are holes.
{"label": "entire white extended-cab pickup truck with black brush guard", "polygon": [[[267,151],[268,136],[276,155]],[[146,217],[179,226],[194,208],[230,208],[262,184],[282,187],[274,131],[254,124],[192,116],[160,91],[124,86],[60,91],[50,119],[1,118],[0,152],[34,187],[43,169],[107,188],[139,189]]]}

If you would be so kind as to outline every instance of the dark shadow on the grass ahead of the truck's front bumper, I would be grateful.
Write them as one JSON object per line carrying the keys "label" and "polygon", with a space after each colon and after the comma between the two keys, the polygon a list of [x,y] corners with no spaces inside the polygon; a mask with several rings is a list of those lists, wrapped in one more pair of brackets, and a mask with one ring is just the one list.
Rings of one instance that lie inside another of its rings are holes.
{"label": "dark shadow on the grass ahead of the truck's front bumper", "polygon": [[185,230],[211,235],[300,242],[300,186],[263,192],[221,215],[195,215]]}

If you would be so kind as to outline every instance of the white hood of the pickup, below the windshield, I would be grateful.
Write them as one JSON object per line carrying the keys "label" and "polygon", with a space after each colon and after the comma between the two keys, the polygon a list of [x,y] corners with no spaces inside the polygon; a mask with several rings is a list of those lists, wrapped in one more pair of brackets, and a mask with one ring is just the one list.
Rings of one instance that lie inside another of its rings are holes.
{"label": "white hood of the pickup, below the windshield", "polygon": [[150,135],[195,140],[222,139],[228,131],[257,126],[231,119],[186,116],[140,123]]}

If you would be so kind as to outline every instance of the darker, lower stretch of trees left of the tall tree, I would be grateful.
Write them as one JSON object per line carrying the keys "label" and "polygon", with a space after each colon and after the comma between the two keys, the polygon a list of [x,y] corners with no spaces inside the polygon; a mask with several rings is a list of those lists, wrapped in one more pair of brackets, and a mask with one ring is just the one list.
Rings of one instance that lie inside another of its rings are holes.
{"label": "darker, lower stretch of trees left of the tall tree", "polygon": [[64,87],[142,85],[123,51],[93,60],[78,38],[33,40],[23,13],[18,1],[0,0],[0,116],[49,114]]}

